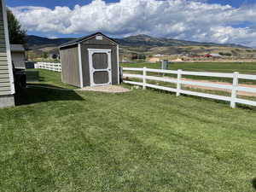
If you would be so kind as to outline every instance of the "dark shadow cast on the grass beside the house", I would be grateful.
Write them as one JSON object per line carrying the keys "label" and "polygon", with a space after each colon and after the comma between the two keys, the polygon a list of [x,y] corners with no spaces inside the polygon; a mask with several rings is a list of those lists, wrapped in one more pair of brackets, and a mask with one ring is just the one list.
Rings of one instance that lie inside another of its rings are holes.
{"label": "dark shadow cast on the grass beside the house", "polygon": [[44,87],[28,87],[15,94],[15,105],[17,106],[39,102],[83,100],[84,98],[79,96],[74,90],[64,90],[61,87],[50,84],[44,84]]}

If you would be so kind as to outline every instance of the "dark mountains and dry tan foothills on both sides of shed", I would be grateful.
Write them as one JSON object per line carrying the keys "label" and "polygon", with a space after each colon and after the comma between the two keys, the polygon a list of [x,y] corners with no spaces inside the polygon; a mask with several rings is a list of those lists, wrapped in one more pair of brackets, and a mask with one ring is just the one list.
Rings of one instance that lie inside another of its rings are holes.
{"label": "dark mountains and dry tan foothills on both sides of shed", "polygon": [[[27,41],[30,50],[27,52],[28,58],[47,57],[52,54],[59,54],[58,46],[67,43],[73,38],[41,38],[28,36]],[[170,38],[152,38],[147,35],[137,35],[127,38],[115,39],[121,44],[120,60],[132,61],[134,55],[144,59],[154,55],[206,55],[216,53],[231,55],[238,58],[256,57],[256,50],[237,44],[212,44],[183,41]],[[175,58],[175,57],[174,57]]]}

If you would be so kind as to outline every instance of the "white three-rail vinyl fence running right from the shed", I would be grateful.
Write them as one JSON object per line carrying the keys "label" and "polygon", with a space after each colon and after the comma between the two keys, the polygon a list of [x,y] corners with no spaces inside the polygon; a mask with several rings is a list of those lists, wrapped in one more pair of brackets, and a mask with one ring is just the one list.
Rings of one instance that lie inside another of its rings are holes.
{"label": "white three-rail vinyl fence running right from the shed", "polygon": [[[225,101],[225,102],[230,102],[231,108],[236,108],[236,103],[242,103],[242,104],[246,104],[246,105],[256,106],[256,102],[246,100],[246,99],[241,99],[241,98],[237,97],[237,91],[239,91],[239,90],[250,92],[250,93],[256,93],[255,88],[245,87],[245,86],[241,86],[238,84],[239,79],[256,80],[256,75],[239,74],[237,72],[236,73],[201,73],[201,72],[187,72],[187,71],[182,71],[182,70],[172,71],[172,70],[152,69],[152,68],[146,68],[146,67],[143,67],[143,68],[123,67],[123,71],[124,71],[124,73],[123,73],[124,78],[126,77],[126,78],[134,78],[134,79],[143,79],[143,83],[124,80],[125,84],[141,85],[141,86],[143,86],[143,89],[146,89],[146,87],[150,87],[150,88],[154,88],[154,89],[158,89],[158,90],[167,90],[167,91],[171,91],[171,92],[176,92],[177,96],[180,96],[180,94],[185,94],[185,95],[201,96],[201,97],[221,100],[221,101]],[[143,75],[125,73],[125,71],[142,72]],[[177,79],[147,76],[148,72],[177,74]],[[228,78],[228,79],[233,79],[233,84],[216,84],[216,83],[213,84],[213,83],[206,83],[206,82],[199,82],[199,81],[196,82],[196,81],[183,80],[182,75]],[[147,80],[155,80],[155,81],[162,81],[162,82],[177,84],[177,87],[170,88],[170,87],[160,86],[160,85],[156,85],[156,84],[148,84]],[[218,96],[218,95],[200,93],[200,92],[195,92],[195,91],[190,91],[190,90],[182,90],[182,84],[230,90],[231,96]]]}

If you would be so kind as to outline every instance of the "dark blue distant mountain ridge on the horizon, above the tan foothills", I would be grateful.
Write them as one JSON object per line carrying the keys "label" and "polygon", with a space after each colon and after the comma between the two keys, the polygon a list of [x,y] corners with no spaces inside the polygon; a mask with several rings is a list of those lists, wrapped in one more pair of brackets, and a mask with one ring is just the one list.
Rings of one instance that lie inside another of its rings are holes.
{"label": "dark blue distant mountain ridge on the horizon, above the tan foothills", "polygon": [[[34,35],[27,36],[27,45],[29,49],[38,49],[44,47],[58,47],[65,44],[74,38],[42,38]],[[127,38],[115,38],[119,44],[128,47],[168,47],[168,46],[220,46],[220,47],[233,47],[233,48],[246,48],[249,47],[240,44],[214,44],[214,43],[199,43],[194,41],[184,41],[172,38],[153,38],[148,35],[136,35]]]}

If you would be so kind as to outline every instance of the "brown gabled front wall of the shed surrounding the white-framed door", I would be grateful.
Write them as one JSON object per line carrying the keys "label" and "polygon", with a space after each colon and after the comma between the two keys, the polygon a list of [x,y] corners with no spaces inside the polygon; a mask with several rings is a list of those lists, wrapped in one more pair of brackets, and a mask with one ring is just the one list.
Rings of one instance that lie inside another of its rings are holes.
{"label": "brown gabled front wall of the shed surrounding the white-framed door", "polygon": [[96,40],[96,37],[85,40],[81,43],[81,61],[83,71],[84,86],[90,86],[90,67],[88,49],[111,49],[111,67],[112,67],[112,84],[118,84],[118,61],[117,61],[117,45],[108,38]]}

